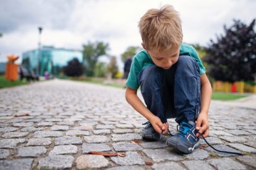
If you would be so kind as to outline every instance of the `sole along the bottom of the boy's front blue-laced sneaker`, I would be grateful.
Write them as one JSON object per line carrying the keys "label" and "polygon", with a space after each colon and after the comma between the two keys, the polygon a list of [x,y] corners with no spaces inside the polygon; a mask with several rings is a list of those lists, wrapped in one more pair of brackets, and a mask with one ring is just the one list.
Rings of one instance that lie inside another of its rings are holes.
{"label": "sole along the bottom of the boy's front blue-laced sneaker", "polygon": [[172,139],[168,139],[166,141],[166,145],[182,153],[192,153],[195,150],[195,148],[198,148],[200,146],[200,140],[198,140],[198,142],[195,143],[194,147],[190,147],[190,148],[187,148],[186,145],[177,144],[177,142]]}

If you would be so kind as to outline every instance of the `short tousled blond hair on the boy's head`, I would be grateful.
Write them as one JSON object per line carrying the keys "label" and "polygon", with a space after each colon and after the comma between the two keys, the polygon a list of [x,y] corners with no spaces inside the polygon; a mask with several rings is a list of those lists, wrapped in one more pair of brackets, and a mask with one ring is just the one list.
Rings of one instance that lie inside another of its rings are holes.
{"label": "short tousled blond hair on the boy's head", "polygon": [[179,47],[182,42],[181,18],[171,5],[150,9],[140,18],[140,35],[144,48],[163,51]]}

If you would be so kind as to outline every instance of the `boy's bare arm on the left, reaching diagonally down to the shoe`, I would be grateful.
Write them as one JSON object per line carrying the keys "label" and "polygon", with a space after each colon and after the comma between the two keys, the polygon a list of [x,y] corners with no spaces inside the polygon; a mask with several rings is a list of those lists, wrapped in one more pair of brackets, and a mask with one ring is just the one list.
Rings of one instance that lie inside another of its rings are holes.
{"label": "boy's bare arm on the left, reaching diagonally down to the shoe", "polygon": [[130,89],[129,87],[126,87],[126,100],[136,111],[138,111],[145,118],[147,118],[148,121],[150,121],[156,132],[167,132],[167,128],[161,122],[160,118],[153,115],[153,113],[151,113],[151,111],[148,110],[148,108],[145,107],[145,105],[139,99],[137,96],[137,89]]}

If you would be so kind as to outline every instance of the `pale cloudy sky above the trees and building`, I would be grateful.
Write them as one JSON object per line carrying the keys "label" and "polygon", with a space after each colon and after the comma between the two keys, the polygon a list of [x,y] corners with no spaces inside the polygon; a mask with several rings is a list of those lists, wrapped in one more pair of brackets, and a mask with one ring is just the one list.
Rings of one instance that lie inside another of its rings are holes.
{"label": "pale cloudy sky above the trees and building", "polygon": [[88,41],[108,42],[109,54],[120,56],[140,46],[138,22],[148,9],[172,4],[179,11],[184,42],[207,46],[233,18],[249,24],[256,18],[254,0],[9,0],[0,6],[0,62],[41,43],[82,49]]}

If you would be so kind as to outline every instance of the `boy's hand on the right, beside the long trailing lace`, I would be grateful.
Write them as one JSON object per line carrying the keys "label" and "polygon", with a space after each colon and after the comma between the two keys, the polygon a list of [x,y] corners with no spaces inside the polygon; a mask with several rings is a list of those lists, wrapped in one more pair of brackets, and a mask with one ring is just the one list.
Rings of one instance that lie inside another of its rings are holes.
{"label": "boy's hand on the right, beside the long trailing lace", "polygon": [[[195,125],[195,129],[200,132],[203,137],[207,137],[209,135],[209,124],[208,124],[208,115],[207,113],[200,113],[197,118],[197,124]],[[197,137],[203,138],[200,134],[197,133]]]}

